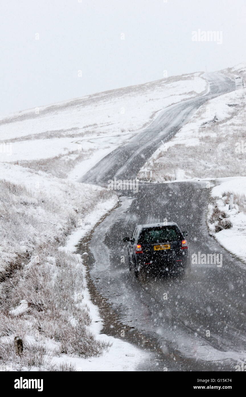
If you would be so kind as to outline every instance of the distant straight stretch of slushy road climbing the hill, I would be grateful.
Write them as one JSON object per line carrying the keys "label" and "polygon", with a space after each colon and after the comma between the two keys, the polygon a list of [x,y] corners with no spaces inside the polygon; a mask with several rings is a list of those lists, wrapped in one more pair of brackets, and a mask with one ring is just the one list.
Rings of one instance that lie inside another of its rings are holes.
{"label": "distant straight stretch of slushy road climbing the hill", "polygon": [[207,100],[233,91],[235,83],[220,73],[204,74],[210,90],[204,96],[185,100],[159,112],[154,121],[129,142],[110,152],[79,181],[84,183],[108,183],[108,179],[133,179],[146,160],[167,142]]}

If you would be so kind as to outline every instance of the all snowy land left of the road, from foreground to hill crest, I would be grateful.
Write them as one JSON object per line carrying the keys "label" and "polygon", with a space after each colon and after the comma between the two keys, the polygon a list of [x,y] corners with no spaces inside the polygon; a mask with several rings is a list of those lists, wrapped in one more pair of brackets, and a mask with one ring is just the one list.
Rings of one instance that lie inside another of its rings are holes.
{"label": "all snowy land left of the road, from foreground to hill crest", "polygon": [[[145,354],[102,335],[75,245],[118,201],[77,183],[158,110],[203,94],[201,73],[99,93],[0,120],[0,368],[132,370]],[[6,326],[8,325],[8,326]],[[18,358],[13,339],[23,339]]]}

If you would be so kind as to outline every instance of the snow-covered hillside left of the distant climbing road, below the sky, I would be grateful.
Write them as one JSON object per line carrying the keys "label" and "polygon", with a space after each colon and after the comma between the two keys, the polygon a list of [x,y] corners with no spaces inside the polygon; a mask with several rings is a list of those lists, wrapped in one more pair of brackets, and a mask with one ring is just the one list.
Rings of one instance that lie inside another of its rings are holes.
{"label": "snow-covered hillside left of the distant climbing road, below the sky", "polygon": [[[204,93],[207,82],[201,74],[169,77],[10,115],[0,120],[0,144],[8,146],[3,147],[0,161],[19,161],[51,173],[59,168],[56,176],[81,177],[148,125],[159,110]],[[54,160],[57,166],[44,159]]]}

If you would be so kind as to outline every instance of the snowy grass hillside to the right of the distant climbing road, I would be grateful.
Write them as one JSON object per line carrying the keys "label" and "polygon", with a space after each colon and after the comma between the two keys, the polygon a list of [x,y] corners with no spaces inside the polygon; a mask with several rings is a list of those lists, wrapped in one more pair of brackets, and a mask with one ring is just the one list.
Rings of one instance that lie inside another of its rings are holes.
{"label": "snowy grass hillside to the right of the distant climbing road", "polygon": [[[242,66],[231,69],[240,74]],[[139,179],[146,179],[146,169],[152,171],[151,181],[158,182],[174,180],[175,171],[178,179],[246,175],[245,152],[239,147],[241,141],[246,142],[245,114],[244,89],[206,102],[153,153],[140,170]]]}

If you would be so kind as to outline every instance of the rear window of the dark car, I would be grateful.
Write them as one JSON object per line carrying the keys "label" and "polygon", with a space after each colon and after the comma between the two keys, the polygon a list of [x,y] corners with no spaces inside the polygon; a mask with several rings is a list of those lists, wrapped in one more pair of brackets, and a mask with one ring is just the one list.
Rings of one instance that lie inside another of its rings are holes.
{"label": "rear window of the dark car", "polygon": [[180,230],[176,226],[148,227],[142,229],[138,242],[147,243],[167,243],[170,241],[182,240]]}

